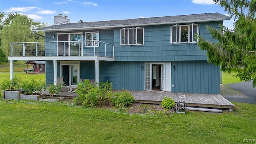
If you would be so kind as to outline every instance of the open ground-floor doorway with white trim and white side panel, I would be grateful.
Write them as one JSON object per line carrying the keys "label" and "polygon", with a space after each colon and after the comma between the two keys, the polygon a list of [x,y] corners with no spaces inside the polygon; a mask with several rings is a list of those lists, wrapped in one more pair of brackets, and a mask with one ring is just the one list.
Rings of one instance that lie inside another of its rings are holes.
{"label": "open ground-floor doorway with white trim and white side panel", "polygon": [[145,63],[145,90],[171,91],[171,63]]}

